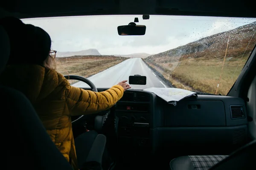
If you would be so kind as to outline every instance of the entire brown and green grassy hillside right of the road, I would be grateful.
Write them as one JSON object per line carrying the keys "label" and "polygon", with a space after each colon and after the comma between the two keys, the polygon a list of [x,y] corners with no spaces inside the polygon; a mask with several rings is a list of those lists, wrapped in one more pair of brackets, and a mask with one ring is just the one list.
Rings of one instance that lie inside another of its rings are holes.
{"label": "entire brown and green grassy hillside right of the road", "polygon": [[256,23],[149,56],[144,61],[176,88],[227,95],[256,44],[255,31]]}

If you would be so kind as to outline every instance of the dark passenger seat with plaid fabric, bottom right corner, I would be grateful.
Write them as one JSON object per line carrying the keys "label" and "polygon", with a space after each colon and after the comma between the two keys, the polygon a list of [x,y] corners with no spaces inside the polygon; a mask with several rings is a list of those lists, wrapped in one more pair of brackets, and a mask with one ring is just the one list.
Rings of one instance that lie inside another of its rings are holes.
{"label": "dark passenger seat with plaid fabric, bottom right corner", "polygon": [[256,140],[228,155],[180,156],[170,170],[252,170],[256,169]]}

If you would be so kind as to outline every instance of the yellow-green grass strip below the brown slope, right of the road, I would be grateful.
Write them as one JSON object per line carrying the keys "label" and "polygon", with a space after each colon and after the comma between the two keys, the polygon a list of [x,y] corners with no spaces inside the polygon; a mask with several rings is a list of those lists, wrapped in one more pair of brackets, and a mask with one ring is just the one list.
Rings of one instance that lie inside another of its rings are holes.
{"label": "yellow-green grass strip below the brown slope, right of the road", "polygon": [[174,70],[165,65],[156,67],[151,64],[151,67],[157,68],[157,71],[176,88],[215,94],[218,87],[217,94],[226,95],[239,76],[246,60],[247,57],[236,59],[236,61],[226,61],[222,74],[223,60],[221,59],[184,59]]}

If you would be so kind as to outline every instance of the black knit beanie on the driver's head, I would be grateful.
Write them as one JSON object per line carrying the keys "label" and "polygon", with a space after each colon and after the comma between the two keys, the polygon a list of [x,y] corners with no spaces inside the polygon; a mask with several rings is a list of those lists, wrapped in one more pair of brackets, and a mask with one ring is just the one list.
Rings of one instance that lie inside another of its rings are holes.
{"label": "black knit beanie on the driver's head", "polygon": [[43,64],[51,48],[51,38],[46,31],[14,17],[0,19],[0,24],[10,39],[8,64]]}

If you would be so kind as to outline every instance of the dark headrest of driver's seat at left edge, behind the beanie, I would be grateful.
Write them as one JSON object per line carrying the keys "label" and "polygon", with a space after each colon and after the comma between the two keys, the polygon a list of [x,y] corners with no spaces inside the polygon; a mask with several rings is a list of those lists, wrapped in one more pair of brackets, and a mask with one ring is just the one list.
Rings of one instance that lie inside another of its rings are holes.
{"label": "dark headrest of driver's seat at left edge, behind the beanie", "polygon": [[9,37],[3,26],[0,26],[0,73],[6,66],[10,55]]}

